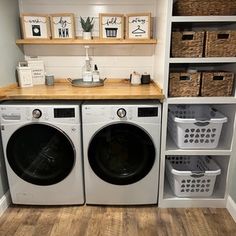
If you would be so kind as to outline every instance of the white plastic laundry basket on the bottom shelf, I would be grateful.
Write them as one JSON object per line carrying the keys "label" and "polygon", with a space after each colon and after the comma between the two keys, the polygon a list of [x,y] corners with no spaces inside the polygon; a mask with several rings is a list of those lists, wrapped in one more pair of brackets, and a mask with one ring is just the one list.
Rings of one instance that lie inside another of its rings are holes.
{"label": "white plastic laundry basket on the bottom shelf", "polygon": [[208,156],[167,156],[166,176],[178,197],[212,195],[220,167]]}

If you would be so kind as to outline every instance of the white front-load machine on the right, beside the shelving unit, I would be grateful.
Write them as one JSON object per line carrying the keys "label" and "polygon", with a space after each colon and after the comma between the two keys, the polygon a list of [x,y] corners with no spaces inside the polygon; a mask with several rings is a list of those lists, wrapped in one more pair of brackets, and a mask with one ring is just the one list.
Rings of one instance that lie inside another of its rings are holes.
{"label": "white front-load machine on the right, beside the shelving unit", "polygon": [[82,104],[87,204],[157,204],[161,105]]}

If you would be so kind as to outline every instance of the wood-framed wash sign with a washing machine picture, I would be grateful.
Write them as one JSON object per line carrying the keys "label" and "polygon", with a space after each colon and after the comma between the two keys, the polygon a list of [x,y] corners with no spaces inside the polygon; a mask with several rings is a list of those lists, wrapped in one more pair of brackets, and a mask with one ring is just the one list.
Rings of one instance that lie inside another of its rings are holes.
{"label": "wood-framed wash sign with a washing machine picture", "polygon": [[21,15],[22,33],[24,39],[49,39],[49,17],[40,14]]}

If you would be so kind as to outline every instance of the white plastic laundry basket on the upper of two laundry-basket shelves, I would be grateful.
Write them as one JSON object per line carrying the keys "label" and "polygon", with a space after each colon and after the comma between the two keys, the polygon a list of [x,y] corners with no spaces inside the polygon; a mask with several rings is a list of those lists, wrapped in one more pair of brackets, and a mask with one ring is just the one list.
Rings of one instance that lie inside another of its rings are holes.
{"label": "white plastic laundry basket on the upper of two laundry-basket shelves", "polygon": [[168,130],[182,149],[216,148],[227,117],[207,105],[171,105]]}

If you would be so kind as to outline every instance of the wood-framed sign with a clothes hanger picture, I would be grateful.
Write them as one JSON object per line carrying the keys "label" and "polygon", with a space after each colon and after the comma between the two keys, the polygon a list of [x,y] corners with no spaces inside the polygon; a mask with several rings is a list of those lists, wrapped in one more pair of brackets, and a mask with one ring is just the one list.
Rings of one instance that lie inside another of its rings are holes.
{"label": "wood-framed sign with a clothes hanger picture", "polygon": [[151,13],[128,14],[126,16],[126,38],[150,39]]}

